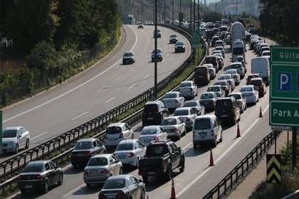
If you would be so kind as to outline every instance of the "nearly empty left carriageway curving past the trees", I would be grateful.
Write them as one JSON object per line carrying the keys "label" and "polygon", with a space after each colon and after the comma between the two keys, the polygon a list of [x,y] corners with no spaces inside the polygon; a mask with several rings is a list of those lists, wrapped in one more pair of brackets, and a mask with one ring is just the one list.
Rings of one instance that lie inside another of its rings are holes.
{"label": "nearly empty left carriageway curving past the trees", "polygon": [[[6,107],[3,112],[5,127],[22,126],[31,133],[30,148],[46,142],[65,131],[78,127],[95,117],[127,102],[154,86],[154,26],[124,25],[122,39],[112,52],[85,72],[70,78],[63,84],[41,92],[31,99]],[[169,35],[174,31],[159,27],[164,60],[158,63],[158,81],[179,67],[191,53],[186,38],[186,53],[174,54],[174,44],[169,44]],[[125,51],[135,53],[133,65],[122,65]],[[12,154],[1,154],[0,161]]]}

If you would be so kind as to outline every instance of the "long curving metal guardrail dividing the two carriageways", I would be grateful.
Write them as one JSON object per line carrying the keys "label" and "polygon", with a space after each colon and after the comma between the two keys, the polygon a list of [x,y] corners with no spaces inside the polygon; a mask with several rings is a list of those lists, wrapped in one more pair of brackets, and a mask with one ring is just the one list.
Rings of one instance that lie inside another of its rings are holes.
{"label": "long curving metal guardrail dividing the two carriageways", "polygon": [[[186,31],[183,31],[175,26],[162,26],[174,29],[175,31],[188,38],[190,42],[192,42],[192,37]],[[163,90],[165,87],[167,87],[171,80],[179,77],[179,75],[181,75],[182,71],[187,67],[187,65],[192,63],[192,60],[194,60],[194,55],[195,52],[194,49],[192,49],[192,53],[189,58],[187,58],[187,60],[185,60],[185,62],[180,65],[177,70],[174,70],[174,72],[172,72],[168,77],[158,83],[157,91],[159,92]],[[189,77],[192,77],[192,74],[190,74]],[[51,160],[56,162],[57,165],[61,165],[65,162],[70,161],[70,153],[73,150],[73,146],[76,141],[87,135],[102,138],[105,134],[105,127],[107,126],[107,124],[112,122],[114,119],[117,119],[120,114],[127,112],[128,109],[137,107],[138,105],[147,102],[149,99],[152,99],[152,97],[154,96],[153,90],[154,87],[143,92],[141,95],[130,99],[124,104],[121,104],[115,109],[112,109],[111,111],[106,112],[105,114],[100,115],[99,117],[96,117],[95,119],[92,119],[89,122],[80,125],[79,127],[75,127],[74,129],[63,133],[60,136],[56,136],[54,139],[51,139],[46,143],[23,151],[23,153],[17,154],[16,156],[0,163],[0,195],[4,195],[5,189],[8,187],[11,188],[12,185],[16,183],[16,179],[26,163],[28,163],[29,161],[49,158],[49,156],[53,153],[59,154],[62,149],[64,151],[65,149],[67,149],[67,151],[56,156],[55,158],[52,158]],[[127,122],[127,124],[130,125],[134,124],[140,119],[142,119],[142,109],[130,115],[130,117],[127,117],[123,122]]]}

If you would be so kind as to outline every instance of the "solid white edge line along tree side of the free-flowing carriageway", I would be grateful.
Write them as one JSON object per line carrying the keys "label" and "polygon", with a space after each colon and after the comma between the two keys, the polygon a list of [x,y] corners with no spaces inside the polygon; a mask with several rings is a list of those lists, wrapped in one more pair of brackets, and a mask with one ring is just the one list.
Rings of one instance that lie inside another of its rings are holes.
{"label": "solid white edge line along tree side of the free-flowing carriageway", "polygon": [[[128,27],[130,27],[130,26],[128,26]],[[131,28],[131,27],[130,27],[130,28]],[[131,29],[132,29],[132,31],[133,31],[134,34],[135,34],[135,38],[136,38],[136,40],[135,40],[135,43],[134,43],[134,45],[132,46],[131,50],[129,50],[129,51],[132,51],[132,50],[135,48],[135,46],[137,45],[137,41],[138,41],[137,33],[134,31],[133,28],[131,28]],[[100,75],[103,75],[105,72],[107,72],[107,71],[110,70],[111,68],[115,67],[115,65],[117,65],[117,64],[120,63],[121,61],[122,61],[122,58],[121,58],[120,60],[118,60],[116,63],[114,63],[113,65],[111,65],[109,68],[107,68],[106,70],[104,70],[103,72],[100,72],[100,74],[95,75],[95,77],[90,78],[90,79],[87,80],[86,82],[83,82],[82,84],[80,84],[80,85],[74,87],[73,89],[69,90],[68,92],[63,93],[62,95],[58,95],[57,97],[54,97],[53,99],[50,99],[50,100],[48,100],[47,102],[44,102],[43,104],[39,104],[38,106],[33,107],[32,109],[28,109],[28,110],[26,110],[25,112],[21,112],[20,114],[16,114],[14,117],[10,117],[9,119],[4,120],[3,122],[8,122],[8,121],[11,120],[11,119],[14,119],[14,118],[19,117],[19,116],[21,116],[21,115],[23,115],[23,114],[26,114],[26,113],[28,113],[28,112],[31,112],[31,111],[33,111],[33,110],[35,110],[35,109],[38,109],[39,107],[43,107],[44,105],[46,105],[46,104],[48,104],[48,103],[50,103],[50,102],[53,102],[53,101],[55,101],[56,99],[59,99],[59,98],[65,96],[65,95],[68,95],[68,93],[73,92],[74,90],[77,90],[78,88],[82,87],[83,85],[86,85],[88,82],[91,82],[92,80],[95,80],[95,78],[99,77]],[[98,60],[98,62],[95,63],[94,65],[98,64],[99,62],[100,62],[100,60]],[[93,66],[92,66],[92,67],[93,67]]]}

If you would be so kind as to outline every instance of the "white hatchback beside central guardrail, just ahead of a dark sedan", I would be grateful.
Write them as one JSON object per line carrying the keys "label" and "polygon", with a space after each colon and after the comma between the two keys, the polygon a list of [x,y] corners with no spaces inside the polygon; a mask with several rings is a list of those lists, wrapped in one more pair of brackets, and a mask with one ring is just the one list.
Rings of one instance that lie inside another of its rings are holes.
{"label": "white hatchback beside central guardrail, just ahead of a dark sedan", "polygon": [[134,132],[127,123],[117,122],[108,125],[104,135],[105,146],[117,146],[125,139],[134,139]]}

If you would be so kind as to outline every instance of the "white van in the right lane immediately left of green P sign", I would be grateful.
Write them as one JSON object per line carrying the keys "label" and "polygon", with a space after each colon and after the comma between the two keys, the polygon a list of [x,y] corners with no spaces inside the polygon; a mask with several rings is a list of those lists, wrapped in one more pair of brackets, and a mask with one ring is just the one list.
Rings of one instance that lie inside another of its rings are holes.
{"label": "white van in the right lane immediately left of green P sign", "polygon": [[266,86],[270,84],[270,74],[269,74],[270,63],[269,59],[266,57],[258,57],[251,59],[251,73],[258,73]]}

